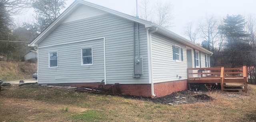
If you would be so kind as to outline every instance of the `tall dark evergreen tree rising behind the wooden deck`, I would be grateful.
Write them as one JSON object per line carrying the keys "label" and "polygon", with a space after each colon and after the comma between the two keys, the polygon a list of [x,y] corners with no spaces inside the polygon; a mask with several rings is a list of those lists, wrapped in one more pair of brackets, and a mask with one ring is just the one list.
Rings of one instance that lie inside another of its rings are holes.
{"label": "tall dark evergreen tree rising behind the wooden deck", "polygon": [[244,31],[245,19],[242,15],[227,15],[223,22],[224,24],[219,26],[226,39],[222,65],[241,67],[246,64],[246,54],[250,51],[246,40],[248,35]]}

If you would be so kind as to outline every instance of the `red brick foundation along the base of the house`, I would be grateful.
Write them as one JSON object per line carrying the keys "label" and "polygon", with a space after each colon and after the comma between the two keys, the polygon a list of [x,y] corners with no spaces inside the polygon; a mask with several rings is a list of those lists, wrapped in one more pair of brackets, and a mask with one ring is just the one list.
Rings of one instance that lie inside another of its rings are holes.
{"label": "red brick foundation along the base of the house", "polygon": [[[60,85],[60,86],[72,86],[72,87],[81,87],[81,86],[90,86],[98,87],[100,83],[56,83],[48,85]],[[180,81],[169,81],[163,83],[154,83],[154,93],[156,97],[162,97],[169,95],[176,91],[186,90],[187,80]],[[103,85],[104,89],[108,89],[110,85]],[[134,95],[142,97],[152,97],[151,96],[151,84],[119,84],[120,92],[123,95]]]}

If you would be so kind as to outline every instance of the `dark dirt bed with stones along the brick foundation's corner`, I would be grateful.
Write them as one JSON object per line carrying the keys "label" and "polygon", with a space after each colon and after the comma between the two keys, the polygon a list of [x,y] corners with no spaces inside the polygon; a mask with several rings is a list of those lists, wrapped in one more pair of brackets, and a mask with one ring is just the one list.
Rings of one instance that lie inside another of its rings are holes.
{"label": "dark dirt bed with stones along the brick foundation's corner", "polygon": [[178,91],[164,97],[150,98],[150,97],[139,97],[139,96],[124,96],[126,98],[138,99],[143,101],[151,101],[157,104],[168,104],[175,103],[176,101],[186,101],[187,104],[196,102],[208,102],[213,100],[212,97],[206,95],[207,91]]}

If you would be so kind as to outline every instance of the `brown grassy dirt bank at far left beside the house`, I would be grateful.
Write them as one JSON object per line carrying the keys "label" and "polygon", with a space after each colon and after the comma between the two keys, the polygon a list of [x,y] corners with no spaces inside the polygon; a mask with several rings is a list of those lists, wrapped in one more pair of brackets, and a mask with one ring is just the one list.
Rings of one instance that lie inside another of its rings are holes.
{"label": "brown grassy dirt bank at far left beside the house", "polygon": [[28,62],[0,62],[0,79],[13,81],[31,79],[33,72],[37,70],[37,64]]}

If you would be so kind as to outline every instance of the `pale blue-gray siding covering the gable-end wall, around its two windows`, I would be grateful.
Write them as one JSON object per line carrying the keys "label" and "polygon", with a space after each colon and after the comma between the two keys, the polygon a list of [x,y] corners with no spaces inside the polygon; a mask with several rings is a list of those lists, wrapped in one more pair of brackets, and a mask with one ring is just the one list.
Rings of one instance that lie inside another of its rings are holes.
{"label": "pale blue-gray siding covering the gable-end wall, around its two windows", "polygon": [[[38,82],[100,82],[104,79],[103,39],[72,42],[105,37],[106,83],[149,83],[146,28],[144,25],[140,25],[139,28],[140,57],[143,57],[144,66],[144,75],[140,78],[132,77],[134,72],[133,34],[132,21],[111,14],[60,24],[38,45]],[[135,38],[137,39],[137,34]],[[60,43],[70,44],[58,45]],[[135,43],[137,48],[137,41]],[[58,46],[44,47],[49,45]],[[81,48],[90,46],[93,48],[93,65],[81,66]],[[48,52],[51,51],[59,53],[58,68],[48,68]]]}

